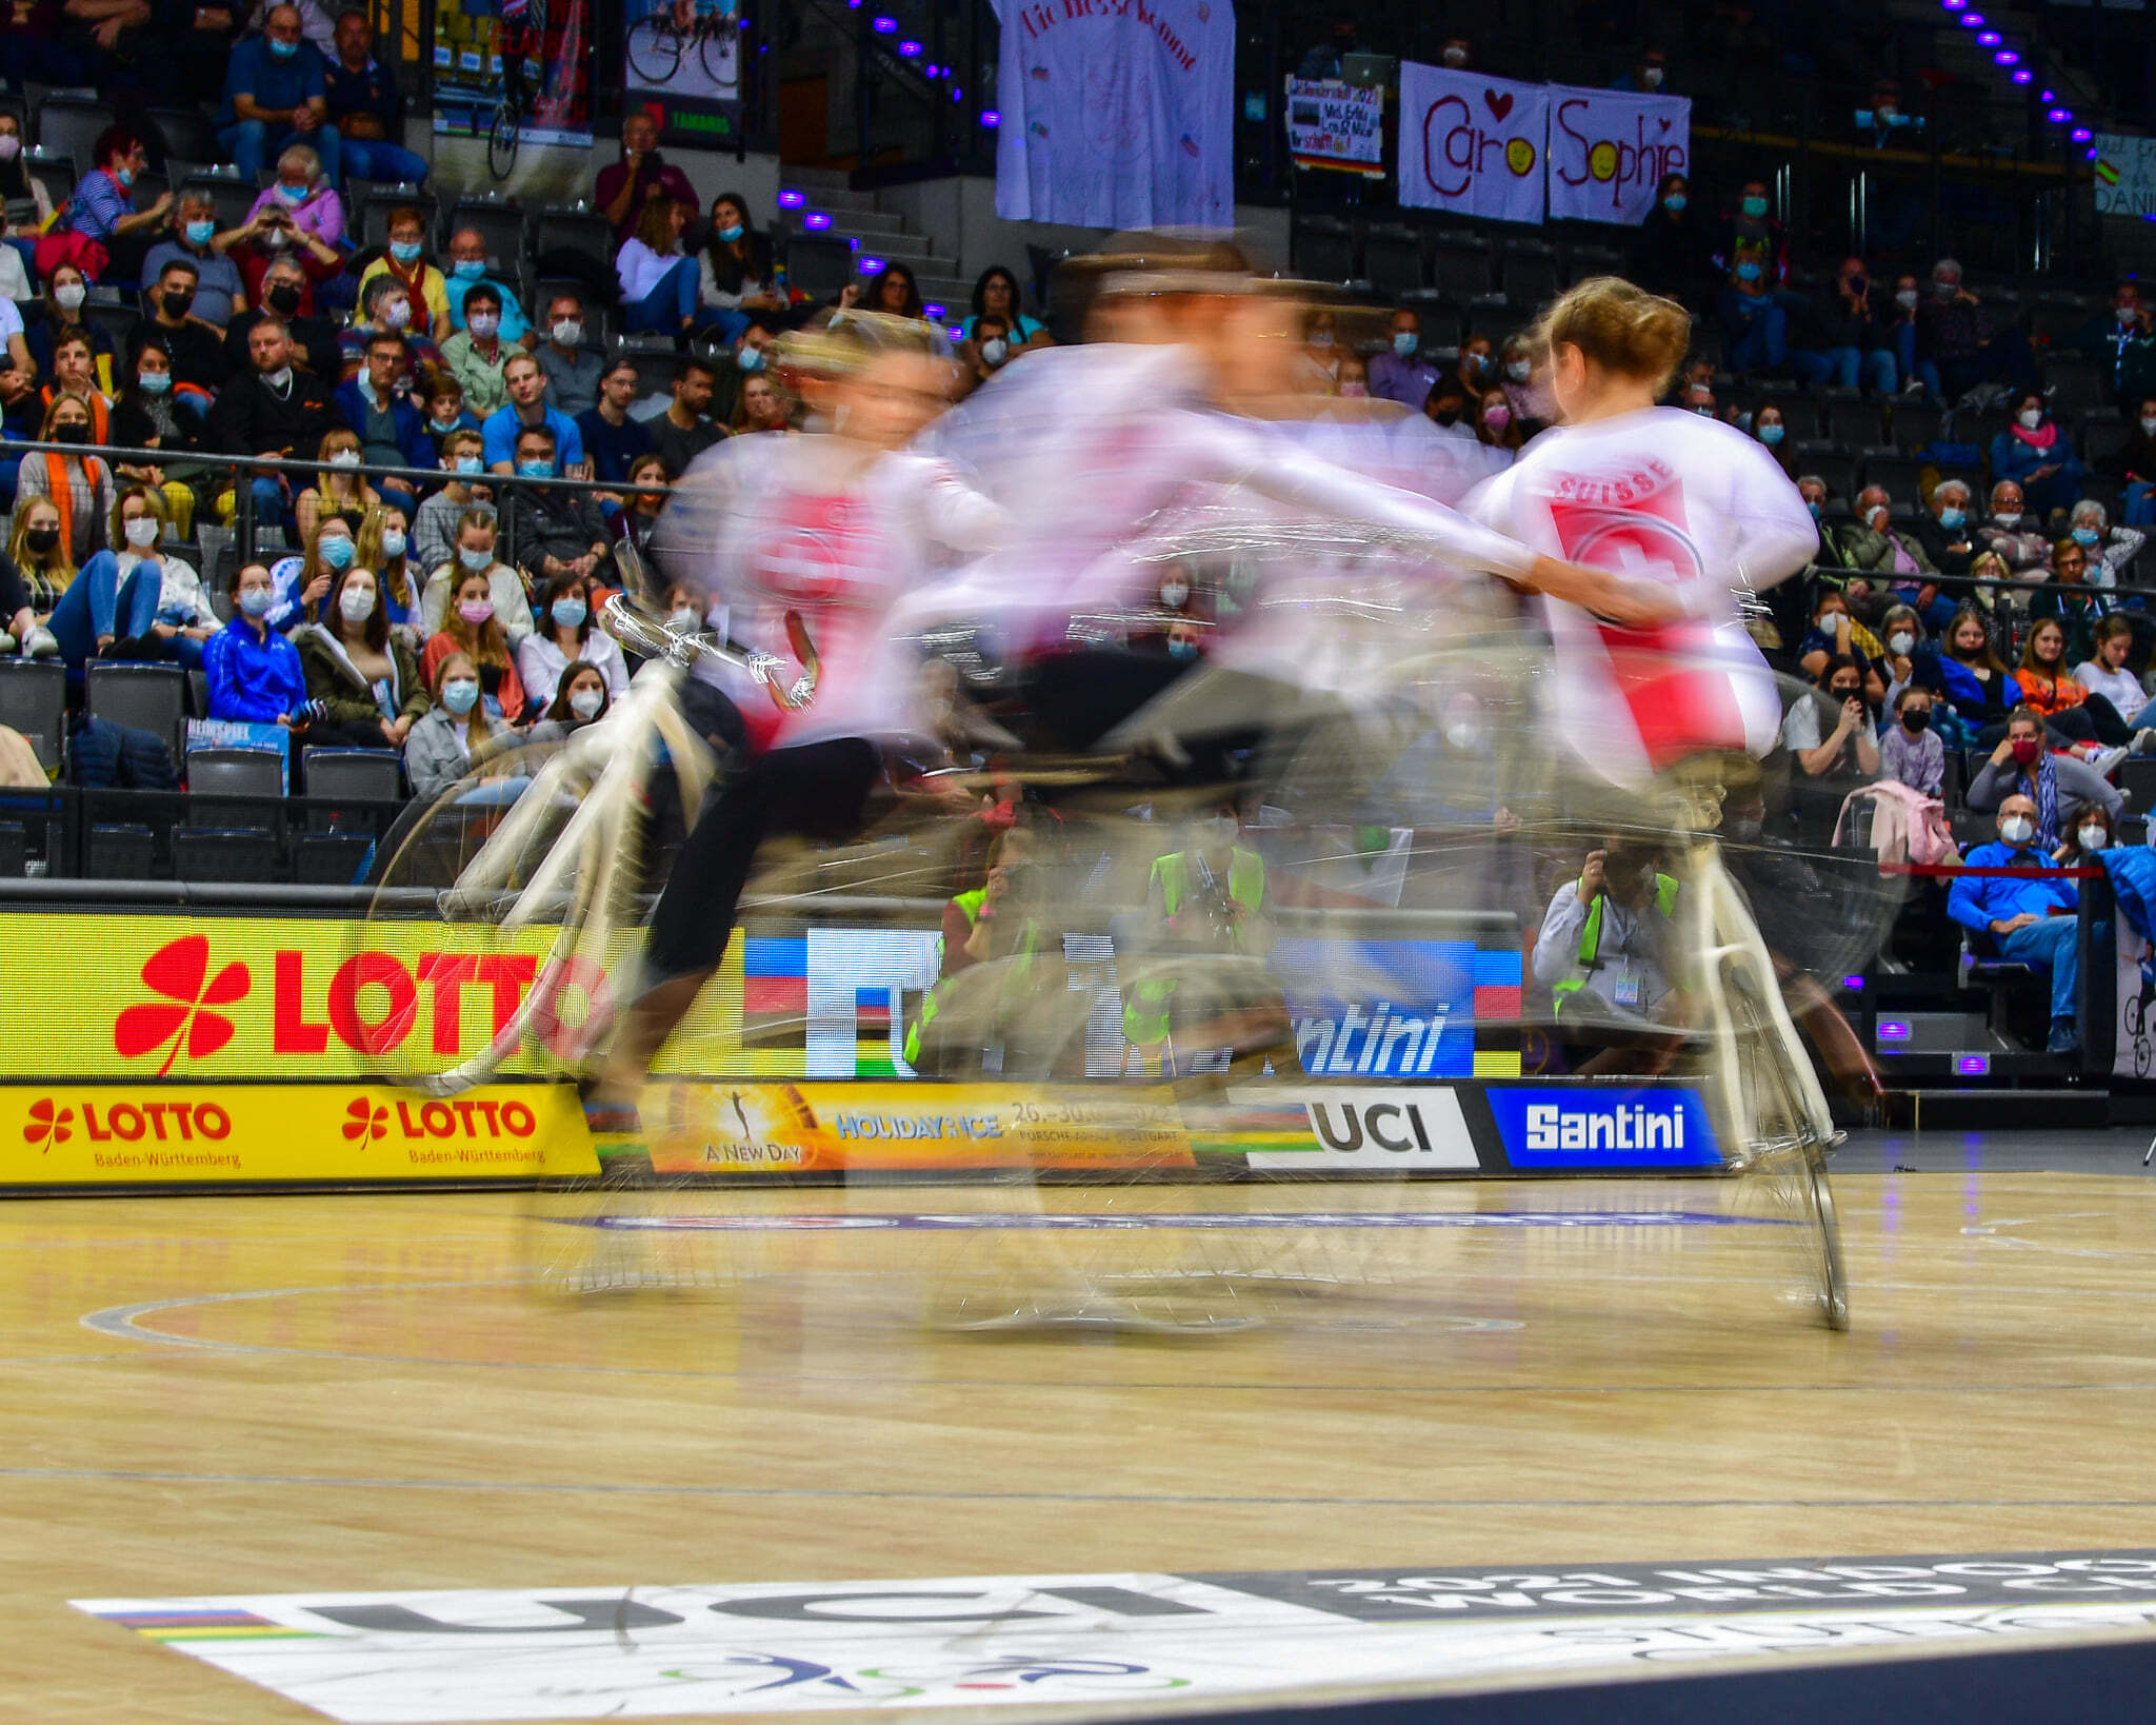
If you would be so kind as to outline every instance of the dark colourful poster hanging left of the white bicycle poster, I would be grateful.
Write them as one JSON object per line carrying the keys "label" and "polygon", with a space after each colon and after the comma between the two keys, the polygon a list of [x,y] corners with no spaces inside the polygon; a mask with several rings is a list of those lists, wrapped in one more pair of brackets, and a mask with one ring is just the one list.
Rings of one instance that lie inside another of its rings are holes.
{"label": "dark colourful poster hanging left of the white bicycle poster", "polygon": [[522,144],[591,147],[591,0],[440,0],[433,129],[485,138],[498,181]]}

